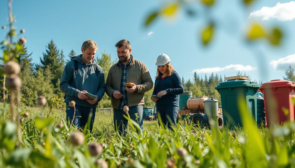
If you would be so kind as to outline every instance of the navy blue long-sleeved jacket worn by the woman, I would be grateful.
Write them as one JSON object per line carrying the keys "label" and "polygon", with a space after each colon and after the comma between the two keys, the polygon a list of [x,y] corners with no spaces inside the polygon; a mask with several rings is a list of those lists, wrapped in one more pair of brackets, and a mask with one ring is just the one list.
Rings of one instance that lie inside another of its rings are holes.
{"label": "navy blue long-sleeved jacket worn by the woman", "polygon": [[171,76],[156,78],[153,95],[166,90],[167,94],[156,102],[156,107],[161,105],[174,105],[179,107],[179,94],[183,94],[183,85],[176,71],[172,71]]}

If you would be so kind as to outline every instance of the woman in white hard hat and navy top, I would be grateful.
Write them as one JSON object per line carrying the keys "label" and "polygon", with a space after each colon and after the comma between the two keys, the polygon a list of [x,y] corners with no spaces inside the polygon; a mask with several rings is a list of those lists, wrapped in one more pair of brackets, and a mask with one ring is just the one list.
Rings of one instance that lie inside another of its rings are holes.
{"label": "woman in white hard hat and navy top", "polygon": [[[179,94],[183,93],[181,78],[170,64],[167,54],[161,54],[157,58],[157,76],[152,96],[156,102],[158,116],[163,124],[171,128],[176,124],[176,116],[179,108]],[[169,122],[171,119],[172,123]]]}

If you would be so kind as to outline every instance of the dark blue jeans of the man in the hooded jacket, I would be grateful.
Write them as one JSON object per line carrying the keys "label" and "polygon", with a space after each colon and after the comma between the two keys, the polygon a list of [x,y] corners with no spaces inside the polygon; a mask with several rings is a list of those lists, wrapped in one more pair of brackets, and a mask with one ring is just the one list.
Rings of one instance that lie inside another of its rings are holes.
{"label": "dark blue jeans of the man in the hooded jacket", "polygon": [[[76,113],[75,113],[73,124],[76,125],[76,127],[81,127],[83,129],[86,123],[88,122],[89,114],[92,113],[90,128],[88,126],[89,131],[92,132],[96,108],[80,106],[78,104],[76,104],[75,107],[76,107]],[[67,114],[67,122],[72,123],[73,116],[74,116],[74,107],[71,107],[69,106],[69,103],[66,103],[65,112]],[[81,116],[81,118],[78,116]]]}

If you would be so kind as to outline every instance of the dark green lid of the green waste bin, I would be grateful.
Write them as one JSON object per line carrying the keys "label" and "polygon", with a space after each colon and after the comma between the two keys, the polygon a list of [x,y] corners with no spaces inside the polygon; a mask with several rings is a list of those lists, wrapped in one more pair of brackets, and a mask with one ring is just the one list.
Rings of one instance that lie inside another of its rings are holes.
{"label": "dark green lid of the green waste bin", "polygon": [[260,87],[255,81],[248,81],[242,79],[227,80],[220,82],[215,89],[231,88],[231,87]]}

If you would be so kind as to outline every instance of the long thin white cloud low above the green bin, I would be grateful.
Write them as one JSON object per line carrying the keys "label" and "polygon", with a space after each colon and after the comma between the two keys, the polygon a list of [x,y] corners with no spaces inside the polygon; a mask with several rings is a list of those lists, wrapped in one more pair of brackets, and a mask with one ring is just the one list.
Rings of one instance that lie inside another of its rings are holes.
{"label": "long thin white cloud low above the green bin", "polygon": [[241,64],[235,64],[235,65],[227,65],[225,67],[213,67],[213,68],[202,68],[202,69],[195,69],[193,72],[204,74],[204,73],[211,73],[211,72],[220,72],[220,71],[253,71],[256,67],[250,66],[250,65],[241,65]]}

